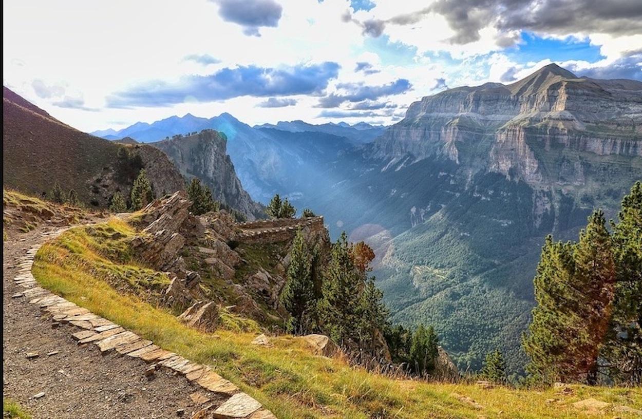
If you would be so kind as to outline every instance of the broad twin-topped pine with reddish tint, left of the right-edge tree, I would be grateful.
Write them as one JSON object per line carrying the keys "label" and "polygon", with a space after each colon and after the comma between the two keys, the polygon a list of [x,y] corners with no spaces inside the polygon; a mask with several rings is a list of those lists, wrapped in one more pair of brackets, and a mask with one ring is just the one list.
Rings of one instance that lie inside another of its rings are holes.
{"label": "broad twin-topped pine with reddish tint, left of the right-edge tree", "polygon": [[594,382],[613,298],[611,246],[602,211],[589,217],[577,244],[546,238],[534,280],[537,306],[523,338],[530,373],[547,381]]}

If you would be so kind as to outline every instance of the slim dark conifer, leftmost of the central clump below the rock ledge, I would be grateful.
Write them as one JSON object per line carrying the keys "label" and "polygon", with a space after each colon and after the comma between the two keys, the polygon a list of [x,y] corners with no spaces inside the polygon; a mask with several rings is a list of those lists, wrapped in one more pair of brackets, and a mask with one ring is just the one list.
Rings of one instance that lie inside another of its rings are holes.
{"label": "slim dark conifer, leftmost of the central clump below the rock ledge", "polygon": [[280,297],[281,304],[292,316],[288,329],[294,334],[309,332],[311,314],[315,308],[315,284],[311,272],[311,259],[308,245],[299,230],[290,250],[290,265]]}

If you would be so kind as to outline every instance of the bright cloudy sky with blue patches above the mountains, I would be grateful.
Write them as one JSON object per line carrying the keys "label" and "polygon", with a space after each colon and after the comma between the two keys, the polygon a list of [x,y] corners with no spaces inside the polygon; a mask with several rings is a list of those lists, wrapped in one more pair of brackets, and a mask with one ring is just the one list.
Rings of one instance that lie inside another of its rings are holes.
{"label": "bright cloudy sky with blue patches above the mountains", "polygon": [[642,80],[642,1],[3,1],[4,85],[86,132],[223,112],[392,124],[551,62]]}

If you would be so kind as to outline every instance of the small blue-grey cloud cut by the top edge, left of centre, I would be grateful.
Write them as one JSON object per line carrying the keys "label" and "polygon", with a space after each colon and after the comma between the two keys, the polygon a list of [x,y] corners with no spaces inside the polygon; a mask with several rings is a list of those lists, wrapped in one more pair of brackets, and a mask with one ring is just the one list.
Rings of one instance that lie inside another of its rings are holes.
{"label": "small blue-grey cloud cut by the top edge, left of centre", "polygon": [[224,21],[243,26],[243,33],[260,37],[259,28],[276,28],[283,8],[274,0],[213,0]]}

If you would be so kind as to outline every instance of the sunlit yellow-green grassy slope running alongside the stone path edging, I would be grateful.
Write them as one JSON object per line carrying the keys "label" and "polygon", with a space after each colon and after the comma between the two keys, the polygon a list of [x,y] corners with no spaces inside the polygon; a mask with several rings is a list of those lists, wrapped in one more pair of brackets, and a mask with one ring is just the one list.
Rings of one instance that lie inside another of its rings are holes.
{"label": "sunlit yellow-green grassy slope running alongside the stone path edging", "polygon": [[[132,329],[158,345],[200,363],[260,400],[279,418],[591,418],[570,402],[596,397],[642,407],[639,389],[574,386],[570,396],[552,389],[484,390],[466,384],[401,381],[352,368],[336,359],[309,354],[299,339],[273,338],[273,348],[250,345],[255,334],[217,330],[220,338],[184,326],[169,311],[145,302],[137,293],[119,293],[108,283],[111,269],[144,267],[128,261],[126,237],[133,234],[122,221],[111,220],[91,237],[75,228],[42,246],[33,274],[42,286]],[[118,234],[114,234],[117,232]],[[117,261],[128,262],[117,262]],[[96,269],[99,267],[100,269]],[[107,270],[105,270],[107,269]],[[476,409],[457,395],[482,404]],[[560,402],[546,403],[560,398]],[[622,418],[633,417],[618,413]]]}

